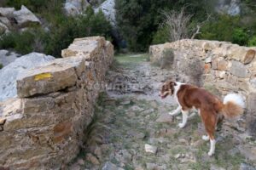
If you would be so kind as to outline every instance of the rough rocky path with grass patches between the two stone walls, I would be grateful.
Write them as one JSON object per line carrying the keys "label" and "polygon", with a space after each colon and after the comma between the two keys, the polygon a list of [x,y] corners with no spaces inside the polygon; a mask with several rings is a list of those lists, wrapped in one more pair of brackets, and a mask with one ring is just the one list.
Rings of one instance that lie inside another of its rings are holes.
{"label": "rough rocky path with grass patches between the two stone walls", "polygon": [[217,133],[216,154],[207,156],[209,143],[199,116],[179,129],[181,116],[170,97],[161,100],[160,84],[172,71],[150,65],[147,56],[118,56],[120,65],[108,73],[108,93],[96,106],[96,118],[86,133],[84,150],[69,169],[254,170],[256,143],[224,122]]}

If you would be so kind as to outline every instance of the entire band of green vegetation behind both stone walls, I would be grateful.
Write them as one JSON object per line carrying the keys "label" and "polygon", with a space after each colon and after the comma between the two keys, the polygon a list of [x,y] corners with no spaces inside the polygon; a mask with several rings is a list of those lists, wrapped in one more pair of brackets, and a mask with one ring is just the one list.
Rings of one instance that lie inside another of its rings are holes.
{"label": "entire band of green vegetation behind both stone walls", "polygon": [[[64,0],[3,0],[2,6],[19,9],[23,4],[36,13],[43,26],[34,26],[26,31],[12,31],[0,37],[0,48],[11,48],[17,53],[32,51],[61,55],[61,49],[75,37],[104,36],[112,40],[112,29],[104,14],[94,14],[87,8],[84,14],[71,17],[63,12]],[[151,44],[174,41],[170,38],[170,26],[166,25],[166,13],[185,7],[184,15],[191,16],[186,25],[189,34],[201,25],[195,38],[234,42],[245,46],[256,46],[256,3],[241,0],[245,8],[240,16],[216,14],[217,0],[115,0],[116,20],[121,48],[131,52],[147,51]],[[191,37],[191,36],[190,36]]]}

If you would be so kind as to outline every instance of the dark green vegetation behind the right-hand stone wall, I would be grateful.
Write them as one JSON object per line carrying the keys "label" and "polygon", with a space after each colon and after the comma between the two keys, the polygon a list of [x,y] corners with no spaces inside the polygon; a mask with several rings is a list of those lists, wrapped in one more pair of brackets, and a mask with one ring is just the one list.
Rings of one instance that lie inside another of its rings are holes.
{"label": "dark green vegetation behind the right-hand stone wall", "polygon": [[[131,51],[145,51],[149,44],[169,42],[170,28],[166,26],[163,11],[181,11],[191,15],[189,31],[195,31],[198,24],[207,20],[195,38],[234,42],[239,45],[253,45],[256,35],[256,20],[253,0],[243,0],[244,9],[240,16],[217,14],[214,6],[217,0],[115,0],[119,32]],[[193,33],[193,32],[191,32]]]}

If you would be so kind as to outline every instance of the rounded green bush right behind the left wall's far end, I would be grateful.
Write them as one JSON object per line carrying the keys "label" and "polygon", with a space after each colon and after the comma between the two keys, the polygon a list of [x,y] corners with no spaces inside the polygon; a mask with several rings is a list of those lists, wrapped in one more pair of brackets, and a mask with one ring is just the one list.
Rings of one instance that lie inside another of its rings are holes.
{"label": "rounded green bush right behind the left wall's far end", "polygon": [[59,24],[50,34],[44,35],[44,52],[59,57],[61,50],[67,48],[76,37],[103,36],[110,39],[111,25],[102,11],[94,14],[92,8],[87,8],[85,14],[76,18],[59,16]]}

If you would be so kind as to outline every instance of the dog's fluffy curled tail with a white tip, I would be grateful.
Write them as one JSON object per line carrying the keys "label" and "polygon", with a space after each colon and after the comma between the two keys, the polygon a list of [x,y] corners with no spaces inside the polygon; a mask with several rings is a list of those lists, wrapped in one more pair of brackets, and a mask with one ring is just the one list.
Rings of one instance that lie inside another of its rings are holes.
{"label": "dog's fluffy curled tail with a white tip", "polygon": [[234,118],[240,116],[245,108],[242,97],[238,94],[228,94],[224,97],[222,114],[225,117]]}

